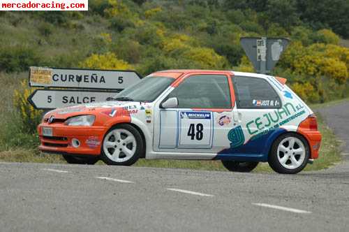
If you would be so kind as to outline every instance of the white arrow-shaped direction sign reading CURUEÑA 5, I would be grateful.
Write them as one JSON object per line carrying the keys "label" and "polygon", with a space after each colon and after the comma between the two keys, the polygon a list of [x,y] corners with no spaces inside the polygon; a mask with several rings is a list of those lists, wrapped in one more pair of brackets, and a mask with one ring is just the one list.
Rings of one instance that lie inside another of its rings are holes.
{"label": "white arrow-shaped direction sign reading CURUE\u00d1A 5", "polygon": [[141,76],[135,71],[31,67],[29,86],[125,89],[140,81],[140,78]]}

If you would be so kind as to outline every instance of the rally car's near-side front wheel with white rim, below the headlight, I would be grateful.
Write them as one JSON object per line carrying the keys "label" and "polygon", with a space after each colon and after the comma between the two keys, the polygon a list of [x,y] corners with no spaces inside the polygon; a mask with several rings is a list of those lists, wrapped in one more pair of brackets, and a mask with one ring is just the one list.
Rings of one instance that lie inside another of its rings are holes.
{"label": "rally car's near-side front wheel with white rim, below the headlight", "polygon": [[105,133],[101,158],[108,165],[130,166],[138,161],[143,150],[140,132],[130,124],[118,124]]}

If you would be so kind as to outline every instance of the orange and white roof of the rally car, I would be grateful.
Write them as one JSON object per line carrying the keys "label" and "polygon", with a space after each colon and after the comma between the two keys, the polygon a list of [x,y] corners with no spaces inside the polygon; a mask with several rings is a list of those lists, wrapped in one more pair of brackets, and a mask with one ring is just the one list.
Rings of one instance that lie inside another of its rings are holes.
{"label": "orange and white roof of the rally car", "polygon": [[172,70],[164,70],[164,71],[156,71],[155,73],[151,73],[152,76],[166,76],[170,78],[179,78],[182,75],[187,75],[191,73],[210,73],[210,74],[226,74],[226,73],[232,73],[236,76],[247,76],[247,77],[253,77],[253,78],[266,78],[269,75],[260,74],[260,73],[245,73],[245,72],[238,72],[238,71],[219,71],[219,70],[202,70],[202,69],[172,69]]}

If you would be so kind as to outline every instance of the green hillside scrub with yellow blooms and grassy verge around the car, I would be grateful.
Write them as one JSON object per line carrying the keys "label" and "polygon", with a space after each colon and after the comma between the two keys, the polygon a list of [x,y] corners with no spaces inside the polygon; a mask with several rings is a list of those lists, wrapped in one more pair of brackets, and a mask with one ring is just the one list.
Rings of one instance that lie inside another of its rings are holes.
{"label": "green hillside scrub with yellow blooms and grassy verge around the car", "polygon": [[[88,12],[0,12],[0,161],[63,162],[36,148],[43,112],[27,103],[29,66],[253,72],[240,38],[283,36],[292,42],[272,74],[307,103],[347,98],[348,11],[346,0],[90,0]],[[320,129],[325,158],[309,166],[315,169],[339,157],[333,133]],[[136,165],[225,170],[219,161]]]}

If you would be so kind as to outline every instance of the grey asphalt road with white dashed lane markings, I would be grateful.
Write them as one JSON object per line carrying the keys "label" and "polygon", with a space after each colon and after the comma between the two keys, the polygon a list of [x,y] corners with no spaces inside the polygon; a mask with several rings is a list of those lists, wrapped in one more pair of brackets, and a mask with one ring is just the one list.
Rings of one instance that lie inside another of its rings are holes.
{"label": "grey asphalt road with white dashed lane markings", "polygon": [[[343,140],[345,107],[324,111]],[[297,175],[0,163],[0,231],[349,231],[348,193],[348,162]]]}

